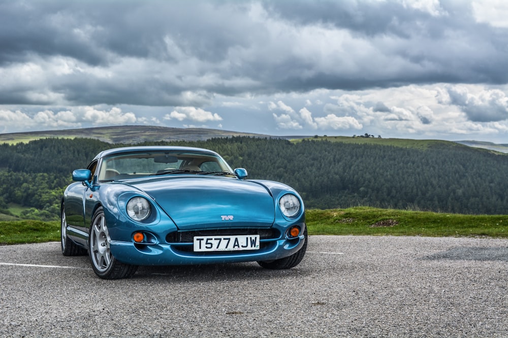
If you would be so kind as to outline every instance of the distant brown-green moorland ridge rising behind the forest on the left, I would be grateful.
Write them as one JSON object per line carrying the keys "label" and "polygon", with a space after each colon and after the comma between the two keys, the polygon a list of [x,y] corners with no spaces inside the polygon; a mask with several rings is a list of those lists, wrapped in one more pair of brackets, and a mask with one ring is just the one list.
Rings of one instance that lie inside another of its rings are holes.
{"label": "distant brown-green moorland ridge rising behind the forest on the left", "polygon": [[251,136],[272,137],[270,135],[242,133],[220,129],[171,128],[158,126],[111,126],[49,131],[32,131],[0,134],[0,143],[28,142],[40,138],[93,138],[108,143],[136,144],[154,141],[198,141],[214,137]]}

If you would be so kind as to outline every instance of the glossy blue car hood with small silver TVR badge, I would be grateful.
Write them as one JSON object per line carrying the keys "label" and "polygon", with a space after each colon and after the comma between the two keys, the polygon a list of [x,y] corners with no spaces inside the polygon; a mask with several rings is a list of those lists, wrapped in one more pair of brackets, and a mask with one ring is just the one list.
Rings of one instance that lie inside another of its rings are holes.
{"label": "glossy blue car hood with small silver TVR badge", "polygon": [[144,191],[180,230],[271,227],[273,198],[261,184],[236,178],[186,175],[124,182]]}

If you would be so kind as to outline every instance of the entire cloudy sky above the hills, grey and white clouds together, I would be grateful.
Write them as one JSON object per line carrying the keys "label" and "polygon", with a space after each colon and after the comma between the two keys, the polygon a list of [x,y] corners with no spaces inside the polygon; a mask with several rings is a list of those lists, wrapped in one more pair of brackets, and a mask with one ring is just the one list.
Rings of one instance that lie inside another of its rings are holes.
{"label": "entire cloudy sky above the hills, grey and white clouds together", "polygon": [[504,0],[0,0],[0,133],[508,143]]}

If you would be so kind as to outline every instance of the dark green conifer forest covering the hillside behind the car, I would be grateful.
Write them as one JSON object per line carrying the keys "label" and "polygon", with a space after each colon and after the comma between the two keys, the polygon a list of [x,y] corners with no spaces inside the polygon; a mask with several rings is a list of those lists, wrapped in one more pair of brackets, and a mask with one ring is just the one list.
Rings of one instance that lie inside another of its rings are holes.
{"label": "dark green conifer forest covering the hillside behind the car", "polygon": [[[508,156],[483,149],[249,137],[150,144],[212,149],[233,168],[246,168],[248,178],[293,186],[307,208],[374,206],[508,214]],[[0,144],[0,212],[16,203],[31,207],[23,217],[57,219],[71,172],[86,167],[100,151],[117,146],[124,145],[57,138]]]}

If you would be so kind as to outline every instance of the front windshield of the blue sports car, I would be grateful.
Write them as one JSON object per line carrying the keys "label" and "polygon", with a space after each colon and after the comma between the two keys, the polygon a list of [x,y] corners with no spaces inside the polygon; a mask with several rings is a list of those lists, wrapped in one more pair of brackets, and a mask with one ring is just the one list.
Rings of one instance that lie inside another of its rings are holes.
{"label": "front windshield of the blue sports car", "polygon": [[199,151],[149,151],[115,154],[102,160],[99,180],[165,174],[233,173],[220,157]]}

